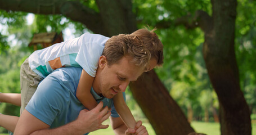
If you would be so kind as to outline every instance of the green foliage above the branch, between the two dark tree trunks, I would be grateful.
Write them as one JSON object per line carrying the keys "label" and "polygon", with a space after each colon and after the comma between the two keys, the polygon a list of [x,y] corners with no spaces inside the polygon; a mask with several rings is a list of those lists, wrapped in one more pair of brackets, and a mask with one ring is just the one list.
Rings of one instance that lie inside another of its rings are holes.
{"label": "green foliage above the branch, between the two dark tree trunks", "polygon": [[187,0],[146,0],[133,1],[133,11],[136,13],[139,27],[146,24],[155,26],[159,21],[170,21],[170,28],[174,28],[174,21],[188,13],[194,13],[196,10],[204,10],[211,13],[210,0],[187,1]]}

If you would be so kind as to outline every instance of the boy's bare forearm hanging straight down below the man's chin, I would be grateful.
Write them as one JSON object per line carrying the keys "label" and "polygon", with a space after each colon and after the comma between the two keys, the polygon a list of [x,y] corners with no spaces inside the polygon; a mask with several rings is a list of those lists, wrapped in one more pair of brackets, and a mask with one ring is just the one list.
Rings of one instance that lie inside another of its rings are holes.
{"label": "boy's bare forearm hanging straight down below the man's chin", "polygon": [[136,121],[131,113],[131,110],[126,105],[123,97],[123,93],[119,92],[113,98],[115,109],[118,112],[120,118],[128,128],[135,129]]}

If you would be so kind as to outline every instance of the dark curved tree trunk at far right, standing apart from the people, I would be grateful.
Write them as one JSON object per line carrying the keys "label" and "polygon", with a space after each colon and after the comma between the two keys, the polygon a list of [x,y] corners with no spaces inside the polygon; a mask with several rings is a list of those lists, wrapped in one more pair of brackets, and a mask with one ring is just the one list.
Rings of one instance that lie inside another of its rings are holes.
{"label": "dark curved tree trunk at far right, standing apart from the people", "polygon": [[234,50],[235,0],[212,0],[213,29],[205,33],[204,60],[219,99],[222,134],[251,134],[249,107],[239,84]]}

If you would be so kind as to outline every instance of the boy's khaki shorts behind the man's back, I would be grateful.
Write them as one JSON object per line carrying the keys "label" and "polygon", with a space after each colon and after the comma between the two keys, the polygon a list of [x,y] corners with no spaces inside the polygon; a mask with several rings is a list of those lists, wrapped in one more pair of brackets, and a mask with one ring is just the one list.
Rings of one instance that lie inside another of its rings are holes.
{"label": "boy's khaki shorts behind the man's back", "polygon": [[43,78],[34,73],[29,66],[29,59],[26,59],[20,67],[21,107],[20,114],[24,111],[29,100],[34,95],[39,82]]}

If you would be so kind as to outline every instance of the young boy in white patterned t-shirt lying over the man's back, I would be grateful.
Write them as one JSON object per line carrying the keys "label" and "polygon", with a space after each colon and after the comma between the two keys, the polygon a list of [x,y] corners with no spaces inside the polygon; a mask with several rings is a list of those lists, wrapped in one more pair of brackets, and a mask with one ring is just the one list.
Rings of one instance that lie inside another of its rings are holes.
{"label": "young boy in white patterned t-shirt lying over the man's back", "polygon": [[[162,64],[163,45],[153,31],[140,29],[131,35],[122,35],[127,39],[137,38],[139,44],[134,45],[141,46],[141,53],[151,55],[149,64],[145,65],[146,70]],[[25,109],[33,96],[38,83],[53,70],[63,66],[83,68],[77,88],[77,98],[87,109],[93,109],[97,102],[91,95],[90,89],[95,77],[98,58],[102,55],[104,48],[107,48],[109,39],[111,40],[111,38],[98,34],[83,34],[79,38],[54,44],[32,53],[21,66],[21,111]],[[119,77],[119,79],[124,78]],[[113,89],[113,94],[116,94],[113,98],[116,111],[127,127],[134,128],[136,122],[124,102],[122,92],[118,93],[118,89]]]}

